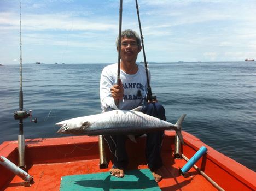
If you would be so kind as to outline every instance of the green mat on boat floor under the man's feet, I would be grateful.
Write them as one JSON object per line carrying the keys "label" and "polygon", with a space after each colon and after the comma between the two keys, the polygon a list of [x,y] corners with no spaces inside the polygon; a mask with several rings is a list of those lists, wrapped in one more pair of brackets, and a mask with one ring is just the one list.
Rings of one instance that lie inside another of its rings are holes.
{"label": "green mat on boat floor under the man's feet", "polygon": [[61,177],[61,191],[70,190],[147,190],[159,191],[149,169],[129,170],[123,178],[111,176],[109,172]]}

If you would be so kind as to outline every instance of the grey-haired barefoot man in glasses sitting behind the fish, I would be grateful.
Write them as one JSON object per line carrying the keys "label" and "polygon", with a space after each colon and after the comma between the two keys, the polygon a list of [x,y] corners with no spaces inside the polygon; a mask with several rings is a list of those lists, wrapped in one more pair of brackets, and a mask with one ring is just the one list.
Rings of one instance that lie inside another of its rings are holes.
{"label": "grey-haired barefoot man in glasses sitting behind the fish", "polygon": [[[147,94],[145,68],[136,64],[138,53],[142,49],[141,39],[135,31],[123,31],[121,39],[118,37],[116,41],[118,51],[119,40],[121,40],[120,81],[117,82],[118,64],[108,65],[101,74],[100,96],[103,112],[112,109],[134,109],[143,104]],[[165,110],[158,102],[144,104],[141,111],[165,120]],[[160,150],[163,136],[163,131],[147,134],[146,158],[156,182],[162,178],[160,175],[162,167]],[[129,162],[125,148],[126,135],[105,135],[104,139],[107,141],[110,152],[114,155],[110,173],[112,176],[123,177]]]}

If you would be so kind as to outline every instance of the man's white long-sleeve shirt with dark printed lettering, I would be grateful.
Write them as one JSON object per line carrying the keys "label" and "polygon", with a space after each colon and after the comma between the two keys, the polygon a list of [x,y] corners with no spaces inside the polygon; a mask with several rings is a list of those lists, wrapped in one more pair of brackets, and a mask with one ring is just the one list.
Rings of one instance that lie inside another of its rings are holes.
{"label": "man's white long-sleeve shirt with dark printed lettering", "polygon": [[138,71],[136,74],[126,74],[124,71],[120,70],[124,96],[123,100],[119,100],[118,106],[115,105],[114,98],[111,96],[110,92],[110,88],[117,84],[118,64],[108,65],[103,69],[100,82],[101,108],[103,112],[108,108],[131,110],[137,106],[141,106],[143,98],[146,97],[147,93],[147,76],[145,68],[142,65],[137,65]]}

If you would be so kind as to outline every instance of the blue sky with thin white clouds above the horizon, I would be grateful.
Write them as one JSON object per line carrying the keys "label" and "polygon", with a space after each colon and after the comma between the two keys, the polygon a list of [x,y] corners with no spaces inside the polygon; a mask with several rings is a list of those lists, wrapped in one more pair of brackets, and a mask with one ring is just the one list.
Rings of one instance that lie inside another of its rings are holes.
{"label": "blue sky with thin white clouds above the horizon", "polygon": [[[22,63],[117,62],[119,0],[21,3]],[[255,0],[138,3],[147,61],[256,59]],[[0,63],[19,64],[19,25],[19,1],[0,0]],[[139,32],[135,0],[123,0],[122,28]]]}

